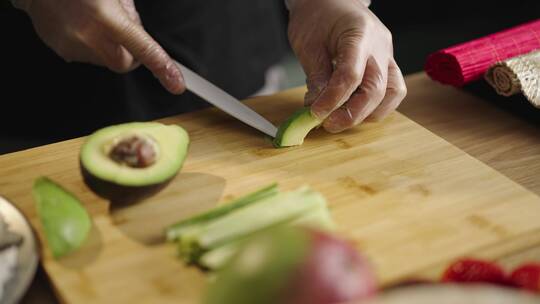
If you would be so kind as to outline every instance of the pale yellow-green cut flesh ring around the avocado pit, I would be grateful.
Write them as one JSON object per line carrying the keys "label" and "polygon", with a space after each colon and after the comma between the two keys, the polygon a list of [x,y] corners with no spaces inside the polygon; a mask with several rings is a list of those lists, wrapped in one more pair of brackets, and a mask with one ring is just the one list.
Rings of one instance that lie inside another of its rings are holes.
{"label": "pale yellow-green cut flesh ring around the avocado pit", "polygon": [[[155,162],[144,168],[113,160],[110,151],[123,139],[137,136],[151,143]],[[188,133],[177,125],[134,122],[110,126],[90,135],[81,148],[80,161],[93,177],[121,186],[148,186],[166,182],[182,167],[189,146]]]}

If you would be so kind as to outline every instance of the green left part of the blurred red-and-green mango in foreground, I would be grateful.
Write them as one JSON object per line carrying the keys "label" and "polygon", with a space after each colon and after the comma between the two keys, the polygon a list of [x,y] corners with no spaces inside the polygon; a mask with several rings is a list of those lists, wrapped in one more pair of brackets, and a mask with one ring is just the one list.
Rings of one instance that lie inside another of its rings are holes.
{"label": "green left part of the blurred red-and-green mango in foreground", "polygon": [[311,246],[301,229],[279,227],[240,246],[209,285],[205,304],[282,303],[283,290]]}

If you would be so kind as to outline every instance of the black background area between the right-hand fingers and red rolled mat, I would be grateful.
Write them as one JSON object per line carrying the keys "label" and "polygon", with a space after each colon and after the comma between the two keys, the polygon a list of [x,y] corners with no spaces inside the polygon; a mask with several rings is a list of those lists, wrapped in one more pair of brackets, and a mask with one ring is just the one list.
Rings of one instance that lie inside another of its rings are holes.
{"label": "black background area between the right-hand fingers and red rolled mat", "polygon": [[427,55],[540,17],[540,1],[372,0],[371,9],[392,31],[394,54],[406,74]]}

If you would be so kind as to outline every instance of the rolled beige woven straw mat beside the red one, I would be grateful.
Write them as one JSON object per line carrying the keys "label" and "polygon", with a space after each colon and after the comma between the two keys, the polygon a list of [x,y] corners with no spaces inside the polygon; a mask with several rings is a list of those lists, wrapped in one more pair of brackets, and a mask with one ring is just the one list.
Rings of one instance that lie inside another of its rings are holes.
{"label": "rolled beige woven straw mat beside the red one", "polygon": [[523,93],[540,108],[540,50],[494,64],[485,78],[498,94]]}

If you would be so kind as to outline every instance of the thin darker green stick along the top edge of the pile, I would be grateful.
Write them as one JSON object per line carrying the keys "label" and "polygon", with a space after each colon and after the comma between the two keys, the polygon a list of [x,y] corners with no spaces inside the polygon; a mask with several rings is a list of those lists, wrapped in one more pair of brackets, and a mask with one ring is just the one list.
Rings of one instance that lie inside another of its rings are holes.
{"label": "thin darker green stick along the top edge of the pile", "polygon": [[204,223],[207,223],[215,218],[223,216],[227,213],[230,213],[236,209],[246,207],[250,204],[256,203],[262,199],[278,194],[278,186],[276,183],[266,186],[262,189],[249,193],[245,196],[242,196],[232,202],[224,204],[222,206],[213,208],[207,212],[198,214],[186,220],[180,221],[174,225],[171,225],[167,228],[167,240],[174,241],[182,233],[188,229],[195,229],[197,226],[200,226]]}

